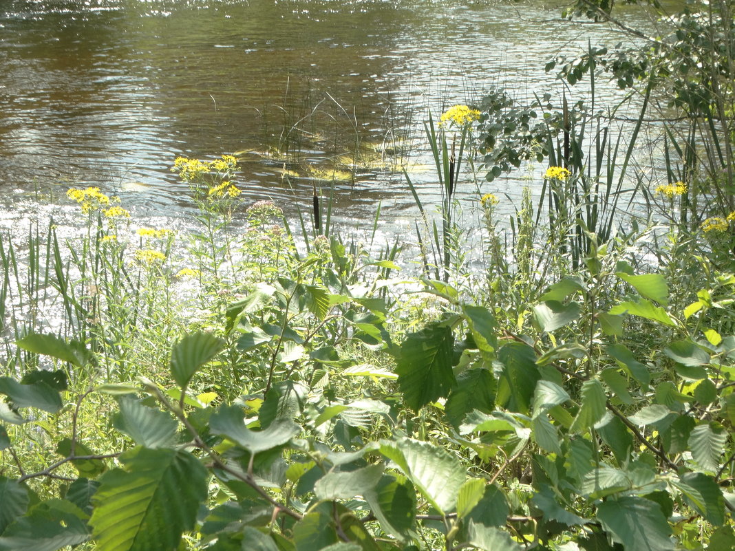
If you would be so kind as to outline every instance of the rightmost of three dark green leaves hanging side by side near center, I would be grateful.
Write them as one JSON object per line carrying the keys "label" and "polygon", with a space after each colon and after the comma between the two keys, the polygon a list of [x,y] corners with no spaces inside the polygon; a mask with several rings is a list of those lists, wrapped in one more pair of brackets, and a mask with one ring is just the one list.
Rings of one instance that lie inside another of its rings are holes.
{"label": "rightmost of three dark green leaves hanging side by side near center", "polygon": [[534,349],[523,342],[511,342],[498,350],[498,360],[503,370],[495,402],[510,411],[527,414],[531,396],[541,378]]}

